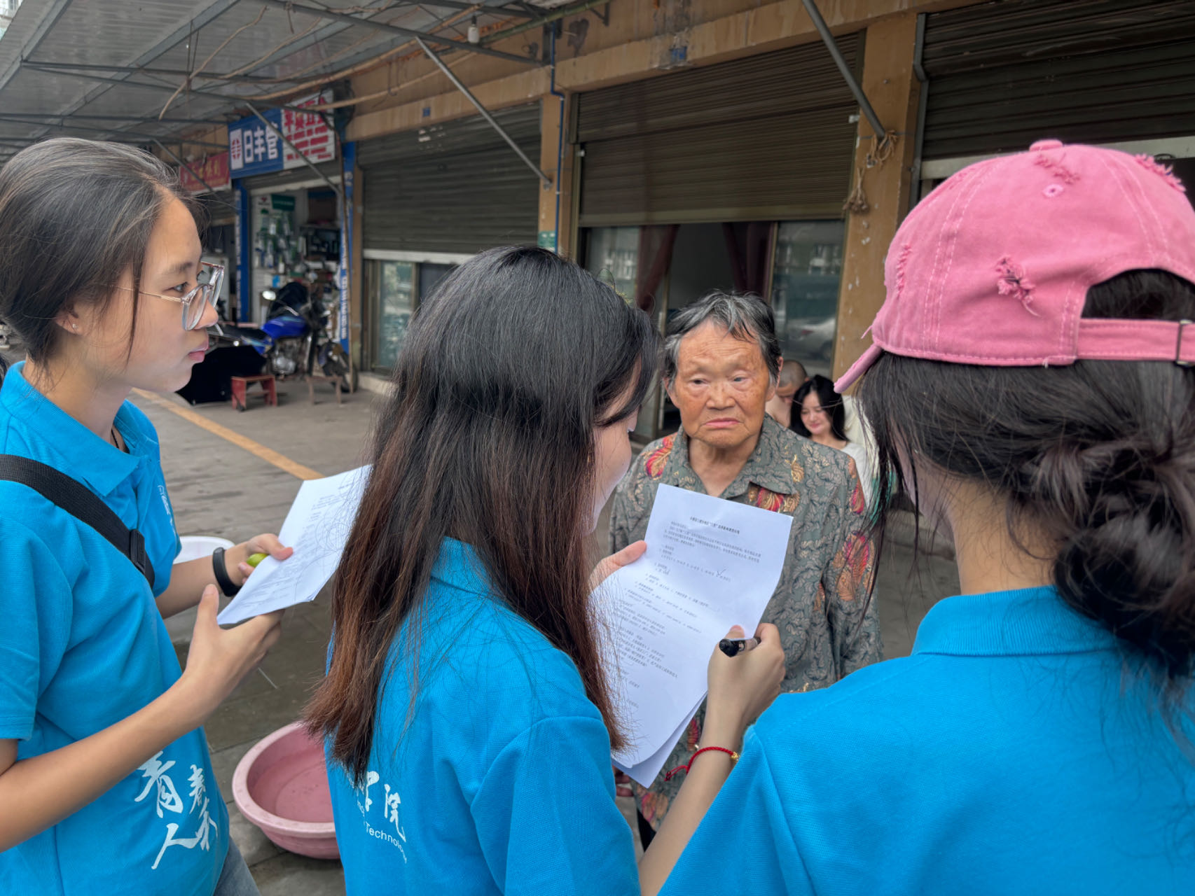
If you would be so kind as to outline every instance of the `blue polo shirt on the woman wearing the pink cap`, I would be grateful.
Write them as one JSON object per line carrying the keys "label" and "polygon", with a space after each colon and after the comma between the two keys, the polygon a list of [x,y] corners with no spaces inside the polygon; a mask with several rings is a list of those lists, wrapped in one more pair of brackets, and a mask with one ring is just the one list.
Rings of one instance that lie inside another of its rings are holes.
{"label": "blue polo shirt on the woman wearing the pink cap", "polygon": [[1053,588],[950,597],[760,717],[662,892],[1190,896],[1195,765]]}

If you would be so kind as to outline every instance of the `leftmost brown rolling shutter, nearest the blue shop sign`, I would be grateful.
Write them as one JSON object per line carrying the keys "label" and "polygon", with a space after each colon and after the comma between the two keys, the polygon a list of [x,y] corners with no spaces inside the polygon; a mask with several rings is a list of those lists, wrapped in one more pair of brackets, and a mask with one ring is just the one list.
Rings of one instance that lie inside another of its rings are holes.
{"label": "leftmost brown rolling shutter, nearest the blue shop sign", "polygon": [[[539,103],[494,117],[539,158]],[[367,250],[472,253],[535,243],[539,179],[480,116],[366,141],[357,159]]]}

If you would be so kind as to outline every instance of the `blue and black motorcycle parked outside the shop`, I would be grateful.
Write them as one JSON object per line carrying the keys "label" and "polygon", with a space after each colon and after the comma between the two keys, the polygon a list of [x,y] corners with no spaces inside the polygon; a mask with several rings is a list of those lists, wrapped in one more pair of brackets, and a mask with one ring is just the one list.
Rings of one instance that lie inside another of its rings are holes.
{"label": "blue and black motorcycle parked outside the shop", "polygon": [[259,330],[217,323],[210,330],[214,343],[252,346],[265,360],[266,372],[278,379],[319,372],[351,391],[353,361],[331,336],[331,315],[321,297],[292,282],[277,293],[263,290],[262,300],[269,308]]}

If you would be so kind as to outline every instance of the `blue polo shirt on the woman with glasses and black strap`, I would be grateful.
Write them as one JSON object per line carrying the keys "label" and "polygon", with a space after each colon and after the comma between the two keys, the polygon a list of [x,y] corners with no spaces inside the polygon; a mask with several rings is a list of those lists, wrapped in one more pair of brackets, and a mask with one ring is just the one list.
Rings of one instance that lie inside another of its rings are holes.
{"label": "blue polo shirt on the woman with glasses and black strap", "polygon": [[[32,388],[22,368],[0,386],[0,453],[79,479],[140,529],[160,594],[179,542],[153,425],[131,404],[121,407],[125,454]],[[16,738],[23,760],[130,716],[180,670],[155,595],[122,553],[24,485],[0,481],[0,738]],[[198,729],[0,853],[0,892],[208,896],[227,837]]]}

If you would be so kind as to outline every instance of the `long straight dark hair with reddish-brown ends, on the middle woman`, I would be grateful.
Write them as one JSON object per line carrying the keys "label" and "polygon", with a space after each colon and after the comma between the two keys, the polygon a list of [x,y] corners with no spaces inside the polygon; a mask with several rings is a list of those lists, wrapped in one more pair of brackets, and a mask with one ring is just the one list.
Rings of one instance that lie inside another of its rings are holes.
{"label": "long straight dark hair with reddish-brown ends, on the middle woman", "polygon": [[[498,595],[572,658],[621,744],[588,600],[594,429],[642,404],[657,352],[646,314],[539,248],[483,252],[422,305],[337,571],[327,677],[306,711],[355,780],[392,642],[418,619],[445,538],[471,545]],[[412,676],[418,628],[404,644]]]}

